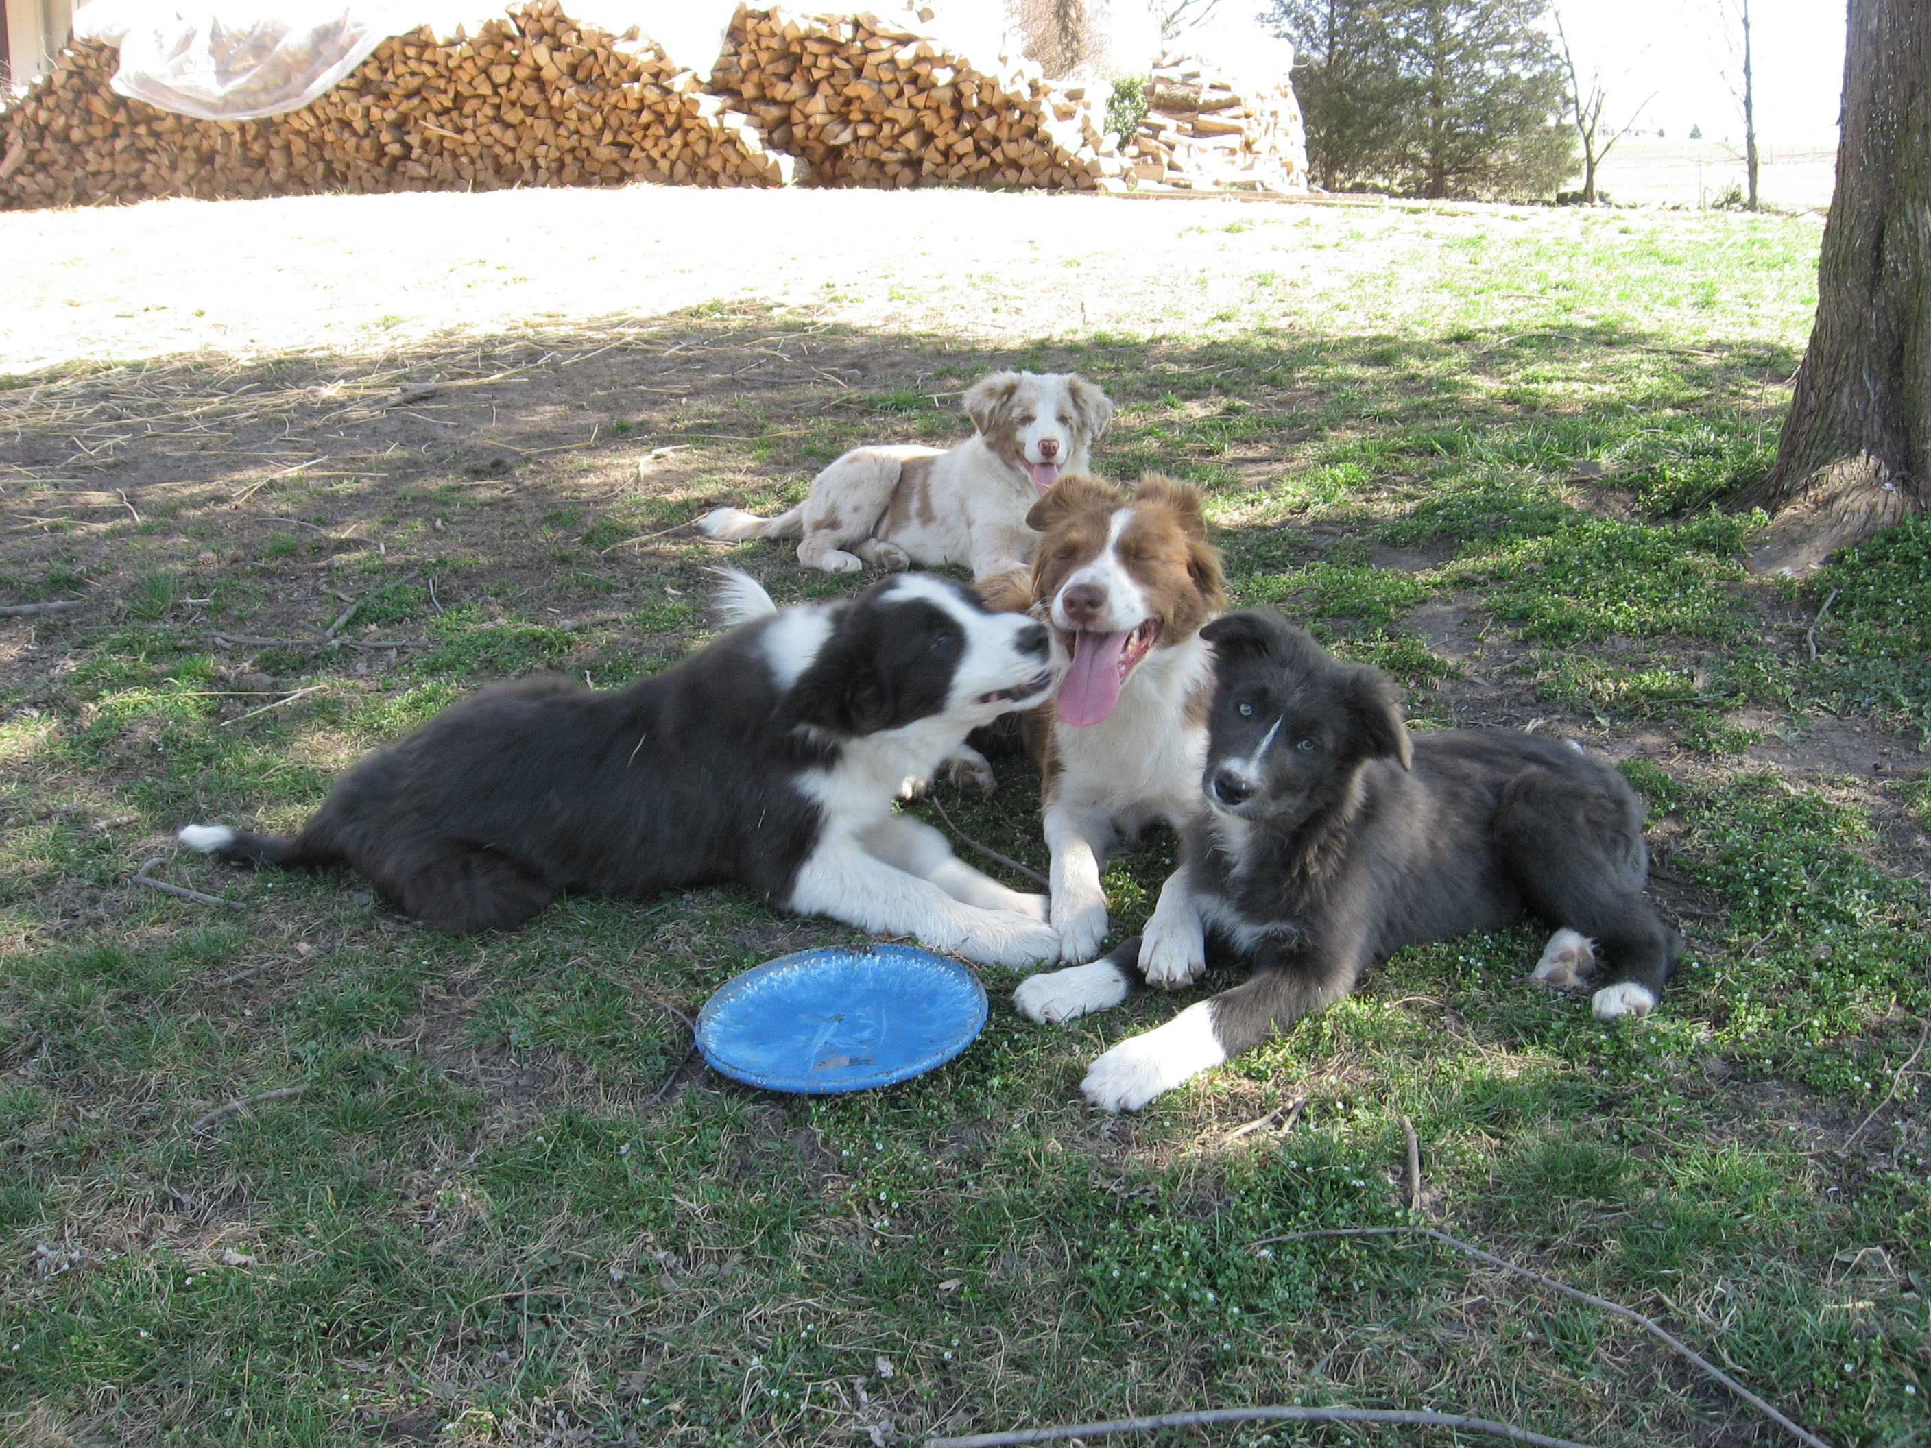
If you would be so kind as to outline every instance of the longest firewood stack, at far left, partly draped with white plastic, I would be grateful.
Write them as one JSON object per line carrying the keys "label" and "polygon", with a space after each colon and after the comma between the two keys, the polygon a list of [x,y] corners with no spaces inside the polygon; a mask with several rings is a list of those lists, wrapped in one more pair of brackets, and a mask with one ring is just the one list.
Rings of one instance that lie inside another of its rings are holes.
{"label": "longest firewood stack, at far left, partly draped with white plastic", "polygon": [[506,185],[788,185],[796,156],[651,41],[529,0],[475,37],[384,41],[328,95],[203,122],[108,89],[118,52],[75,42],[0,116],[0,207]]}

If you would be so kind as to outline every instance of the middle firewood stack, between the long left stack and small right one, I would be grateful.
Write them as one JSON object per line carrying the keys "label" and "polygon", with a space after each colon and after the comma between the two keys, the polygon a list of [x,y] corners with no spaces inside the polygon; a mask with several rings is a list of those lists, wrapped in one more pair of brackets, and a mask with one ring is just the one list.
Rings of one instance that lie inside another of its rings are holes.
{"label": "middle firewood stack, between the long left stack and small right one", "polygon": [[1081,87],[1025,60],[975,70],[913,15],[740,10],[711,79],[821,185],[1087,191],[1124,172]]}

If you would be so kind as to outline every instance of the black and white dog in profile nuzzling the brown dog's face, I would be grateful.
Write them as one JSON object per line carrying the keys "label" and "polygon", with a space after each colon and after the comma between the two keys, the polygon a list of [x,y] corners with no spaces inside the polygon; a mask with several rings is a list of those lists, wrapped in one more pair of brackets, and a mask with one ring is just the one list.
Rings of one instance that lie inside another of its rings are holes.
{"label": "black and white dog in profile nuzzling the brown dog's face", "polygon": [[514,929],[558,892],[736,880],[805,915],[971,960],[1058,954],[1045,896],[892,813],[966,732],[1052,693],[1045,627],[931,573],[778,610],[743,573],[742,626],[614,693],[498,683],[344,774],[294,840],[189,824],[234,861],[351,865],[440,931]]}

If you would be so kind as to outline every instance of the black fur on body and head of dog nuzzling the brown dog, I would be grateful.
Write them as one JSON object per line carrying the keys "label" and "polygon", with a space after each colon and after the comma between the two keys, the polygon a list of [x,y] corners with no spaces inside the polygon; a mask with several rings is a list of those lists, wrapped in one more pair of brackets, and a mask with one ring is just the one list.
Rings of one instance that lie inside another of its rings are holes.
{"label": "black fur on body and head of dog nuzzling the brown dog", "polygon": [[[966,647],[958,618],[890,602],[896,587],[834,604],[788,689],[769,660],[770,614],[628,689],[487,687],[355,765],[292,840],[216,826],[182,838],[238,863],[350,865],[450,933],[514,929],[566,890],[736,880],[784,904],[825,817],[799,780],[946,707]],[[946,587],[981,610],[971,589]],[[1045,668],[1049,641],[1033,631]]]}

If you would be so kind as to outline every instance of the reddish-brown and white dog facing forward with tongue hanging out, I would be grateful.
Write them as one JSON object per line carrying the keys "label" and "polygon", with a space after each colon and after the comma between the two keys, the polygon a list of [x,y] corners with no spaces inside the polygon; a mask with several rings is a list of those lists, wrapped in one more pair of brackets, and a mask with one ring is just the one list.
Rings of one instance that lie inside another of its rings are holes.
{"label": "reddish-brown and white dog facing forward with tongue hanging out", "polygon": [[[1033,616],[1050,626],[1054,653],[1072,658],[1058,697],[1031,724],[1045,770],[1052,929],[1062,960],[1089,961],[1106,936],[1106,859],[1147,824],[1180,828],[1199,813],[1213,699],[1199,629],[1222,606],[1220,556],[1207,543],[1199,490],[1159,473],[1132,496],[1095,477],[1064,477],[1027,523],[1043,535]],[[1016,1000],[1031,1014],[1025,987]]]}

